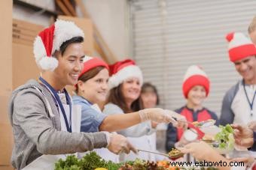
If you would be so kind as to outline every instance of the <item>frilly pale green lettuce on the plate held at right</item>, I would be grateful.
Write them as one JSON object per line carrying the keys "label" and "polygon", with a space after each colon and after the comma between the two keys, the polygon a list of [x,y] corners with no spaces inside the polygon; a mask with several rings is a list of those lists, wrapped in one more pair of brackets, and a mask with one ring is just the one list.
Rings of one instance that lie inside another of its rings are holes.
{"label": "frilly pale green lettuce on the plate held at right", "polygon": [[233,150],[235,145],[235,139],[233,137],[233,128],[230,124],[227,124],[225,127],[220,126],[221,132],[215,135],[215,140],[219,143],[218,148]]}

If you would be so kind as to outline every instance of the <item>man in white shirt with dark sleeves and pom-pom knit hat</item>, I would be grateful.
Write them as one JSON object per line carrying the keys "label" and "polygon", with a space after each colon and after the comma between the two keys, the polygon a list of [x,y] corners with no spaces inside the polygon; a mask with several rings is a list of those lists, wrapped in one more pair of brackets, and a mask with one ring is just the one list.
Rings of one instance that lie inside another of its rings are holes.
{"label": "man in white shirt with dark sleeves and pom-pom knit hat", "polygon": [[244,34],[227,34],[230,61],[242,80],[224,96],[220,123],[248,124],[256,120],[256,47]]}

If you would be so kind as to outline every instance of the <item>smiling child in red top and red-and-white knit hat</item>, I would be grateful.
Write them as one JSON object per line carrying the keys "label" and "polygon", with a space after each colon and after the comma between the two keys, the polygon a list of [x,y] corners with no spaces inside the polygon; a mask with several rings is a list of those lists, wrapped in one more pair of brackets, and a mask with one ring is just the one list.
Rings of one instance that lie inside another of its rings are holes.
{"label": "smiling child in red top and red-and-white knit hat", "polygon": [[[215,124],[218,125],[217,115],[203,106],[203,101],[209,95],[210,82],[201,67],[192,65],[187,68],[182,90],[187,103],[175,112],[183,115],[190,122],[214,119]],[[175,146],[186,145],[187,142],[197,139],[197,136],[193,138],[191,136],[194,136],[194,133],[190,133],[190,130],[186,130],[184,133],[184,130],[169,124],[166,131],[166,150],[171,151]]]}

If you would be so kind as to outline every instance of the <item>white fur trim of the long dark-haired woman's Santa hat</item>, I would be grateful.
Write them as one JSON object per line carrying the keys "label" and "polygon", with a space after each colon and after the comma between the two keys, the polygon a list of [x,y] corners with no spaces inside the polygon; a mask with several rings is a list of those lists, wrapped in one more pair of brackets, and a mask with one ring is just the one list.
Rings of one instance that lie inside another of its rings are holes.
{"label": "white fur trim of the long dark-haired woman's Santa hat", "polygon": [[120,85],[124,80],[129,79],[131,77],[136,77],[139,79],[139,83],[142,86],[143,84],[143,77],[142,77],[142,70],[139,69],[136,65],[129,65],[126,67],[123,67],[121,70],[119,70],[117,73],[112,75],[108,79],[108,87],[115,88],[118,85]]}

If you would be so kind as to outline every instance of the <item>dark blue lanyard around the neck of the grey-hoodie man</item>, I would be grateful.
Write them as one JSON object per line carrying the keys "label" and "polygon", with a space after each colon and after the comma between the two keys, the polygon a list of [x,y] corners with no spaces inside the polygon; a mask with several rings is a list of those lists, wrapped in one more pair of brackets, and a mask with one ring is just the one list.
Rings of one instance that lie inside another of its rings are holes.
{"label": "dark blue lanyard around the neck of the grey-hoodie man", "polygon": [[[54,99],[58,103],[58,106],[60,107],[62,115],[64,117],[66,128],[69,131],[69,133],[72,133],[72,102],[71,102],[71,99],[69,97],[68,91],[66,91],[66,89],[64,88],[64,93],[65,93],[65,96],[66,96],[66,100],[67,100],[67,103],[69,104],[69,113],[70,113],[69,114],[69,121],[68,121],[68,118],[66,116],[66,112],[65,112],[65,109],[62,105],[62,102],[59,99],[59,95],[58,95],[57,91],[48,82],[46,82],[45,79],[43,79],[42,77],[39,77],[39,79],[40,79],[41,82],[44,83],[44,85],[47,86],[47,88],[50,89],[50,91],[54,95]],[[70,125],[69,125],[69,122],[70,122]]]}

